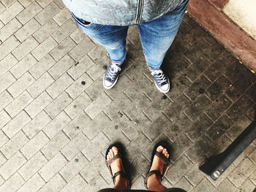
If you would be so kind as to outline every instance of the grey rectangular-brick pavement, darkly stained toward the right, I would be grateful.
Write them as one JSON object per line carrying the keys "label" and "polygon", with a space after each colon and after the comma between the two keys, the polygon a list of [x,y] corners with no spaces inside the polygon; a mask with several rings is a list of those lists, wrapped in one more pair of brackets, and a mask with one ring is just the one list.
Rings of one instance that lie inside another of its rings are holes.
{"label": "grey rectangular-brick pavement, darkly stained toward the right", "polygon": [[104,155],[115,141],[132,163],[132,188],[144,188],[161,139],[172,147],[167,187],[256,188],[256,141],[216,182],[198,170],[255,118],[255,74],[188,15],[163,64],[169,93],[155,88],[135,26],[127,52],[118,83],[105,90],[108,55],[61,0],[0,1],[0,191],[111,187]]}

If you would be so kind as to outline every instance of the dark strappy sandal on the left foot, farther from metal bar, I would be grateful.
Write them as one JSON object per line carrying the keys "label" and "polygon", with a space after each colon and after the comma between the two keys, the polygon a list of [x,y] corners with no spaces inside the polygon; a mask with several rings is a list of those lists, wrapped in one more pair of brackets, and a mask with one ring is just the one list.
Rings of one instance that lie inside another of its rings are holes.
{"label": "dark strappy sandal on the left foot, farther from metal bar", "polygon": [[[116,154],[113,158],[111,158],[111,159],[108,161],[107,155],[108,155],[108,152],[110,151],[110,149],[111,149],[112,147],[116,147],[116,148],[118,149],[118,154]],[[112,169],[111,169],[111,166],[110,166],[110,165],[111,165],[114,161],[116,161],[116,159],[118,159],[118,158],[121,158],[121,161],[124,162],[123,159],[122,159],[122,156],[121,156],[121,148],[122,148],[122,147],[120,146],[120,144],[113,144],[113,145],[110,145],[110,146],[108,147],[108,150],[106,151],[105,161],[106,161],[106,165],[107,165],[107,167],[108,167],[108,171],[109,171],[109,173],[110,173],[110,175],[111,175],[111,177],[112,177],[113,184],[114,184],[114,185],[116,184],[116,177],[117,177],[118,175],[120,175],[121,177],[124,177],[124,178],[127,179],[127,188],[130,189],[130,188],[131,188],[131,184],[130,184],[129,178],[127,177],[127,174],[126,174],[125,172],[122,172],[122,171],[121,171],[121,172],[116,172],[115,174],[113,174]],[[125,169],[125,168],[124,168],[124,169]]]}

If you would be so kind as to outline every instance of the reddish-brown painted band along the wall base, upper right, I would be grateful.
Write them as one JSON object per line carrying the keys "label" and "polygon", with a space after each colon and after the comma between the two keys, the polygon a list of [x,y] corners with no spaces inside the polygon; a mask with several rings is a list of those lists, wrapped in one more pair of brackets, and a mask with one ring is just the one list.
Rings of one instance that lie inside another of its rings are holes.
{"label": "reddish-brown painted band along the wall base, upper right", "polygon": [[256,41],[222,12],[228,0],[190,0],[188,12],[243,64],[256,72]]}

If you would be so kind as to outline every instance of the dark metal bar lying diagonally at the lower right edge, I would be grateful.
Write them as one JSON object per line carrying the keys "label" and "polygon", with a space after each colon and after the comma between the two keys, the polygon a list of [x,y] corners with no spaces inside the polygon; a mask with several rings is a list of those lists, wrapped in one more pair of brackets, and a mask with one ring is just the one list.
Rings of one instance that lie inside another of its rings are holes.
{"label": "dark metal bar lying diagonally at the lower right edge", "polygon": [[256,139],[256,121],[252,123],[236,138],[235,141],[219,155],[209,158],[199,169],[208,174],[212,180],[217,180],[233,161],[236,160],[246,147]]}

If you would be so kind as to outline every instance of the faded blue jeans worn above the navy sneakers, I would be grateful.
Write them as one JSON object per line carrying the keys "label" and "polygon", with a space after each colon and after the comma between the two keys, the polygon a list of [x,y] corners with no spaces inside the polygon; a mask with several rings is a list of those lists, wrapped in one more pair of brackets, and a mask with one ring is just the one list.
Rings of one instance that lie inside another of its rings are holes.
{"label": "faded blue jeans worn above the navy sneakers", "polygon": [[[179,7],[156,20],[138,24],[140,42],[150,68],[157,69],[161,66],[167,50],[176,37],[188,2],[189,0],[184,1]],[[86,22],[73,14],[72,17],[85,34],[105,47],[113,63],[121,64],[124,61],[127,55],[125,45],[129,26],[105,26]]]}

